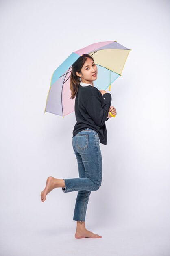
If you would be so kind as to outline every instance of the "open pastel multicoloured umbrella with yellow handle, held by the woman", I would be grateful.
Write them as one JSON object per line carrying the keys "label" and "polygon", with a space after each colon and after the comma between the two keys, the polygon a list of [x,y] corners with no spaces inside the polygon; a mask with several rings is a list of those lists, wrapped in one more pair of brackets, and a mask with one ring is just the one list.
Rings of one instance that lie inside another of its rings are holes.
{"label": "open pastel multicoloured umbrella with yellow handle, held by the woman", "polygon": [[[68,58],[54,71],[51,77],[46,107],[44,112],[65,116],[74,112],[75,99],[70,99],[70,73],[72,64],[82,55],[89,54],[94,58],[98,68],[97,79],[93,82],[98,90],[111,88],[111,83],[121,76],[124,64],[131,49],[117,43],[117,41],[98,42],[88,45]],[[110,113],[111,114],[111,113]]]}

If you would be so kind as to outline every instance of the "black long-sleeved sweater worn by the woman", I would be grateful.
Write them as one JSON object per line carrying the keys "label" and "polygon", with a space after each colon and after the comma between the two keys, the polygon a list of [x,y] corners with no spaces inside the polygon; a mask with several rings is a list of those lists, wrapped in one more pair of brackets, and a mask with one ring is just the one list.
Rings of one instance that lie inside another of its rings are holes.
{"label": "black long-sleeved sweater worn by the woman", "polygon": [[[105,99],[104,99],[105,98]],[[76,124],[73,137],[80,131],[90,128],[98,132],[100,142],[107,144],[107,129],[105,121],[109,118],[108,112],[111,106],[111,94],[101,94],[98,88],[88,85],[78,85],[75,99]]]}

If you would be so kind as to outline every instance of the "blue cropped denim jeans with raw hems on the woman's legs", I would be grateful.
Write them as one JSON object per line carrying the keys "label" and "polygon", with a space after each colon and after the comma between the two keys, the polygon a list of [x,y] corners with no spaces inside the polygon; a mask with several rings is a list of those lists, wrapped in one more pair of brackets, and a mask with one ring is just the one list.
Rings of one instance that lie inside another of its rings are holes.
{"label": "blue cropped denim jeans with raw hems on the woman's legs", "polygon": [[99,135],[86,128],[72,138],[72,146],[78,163],[79,178],[63,179],[64,193],[78,191],[73,220],[85,221],[91,191],[96,191],[102,182],[102,155]]}

